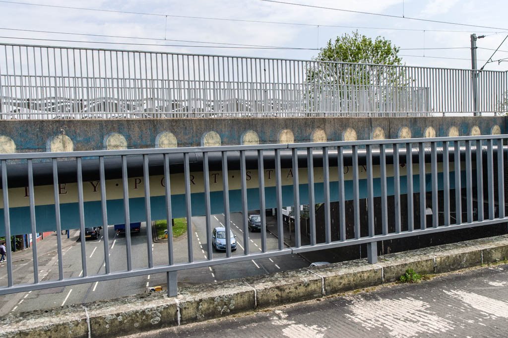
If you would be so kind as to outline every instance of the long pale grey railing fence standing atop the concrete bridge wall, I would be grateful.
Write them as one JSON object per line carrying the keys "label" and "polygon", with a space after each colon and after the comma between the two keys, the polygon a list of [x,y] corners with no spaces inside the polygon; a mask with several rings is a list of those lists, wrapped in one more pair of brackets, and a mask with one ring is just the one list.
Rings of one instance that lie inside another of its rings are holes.
{"label": "long pale grey railing fence standing atop the concrete bridge wall", "polygon": [[[506,108],[478,71],[477,114]],[[0,44],[0,118],[473,114],[471,70]]]}

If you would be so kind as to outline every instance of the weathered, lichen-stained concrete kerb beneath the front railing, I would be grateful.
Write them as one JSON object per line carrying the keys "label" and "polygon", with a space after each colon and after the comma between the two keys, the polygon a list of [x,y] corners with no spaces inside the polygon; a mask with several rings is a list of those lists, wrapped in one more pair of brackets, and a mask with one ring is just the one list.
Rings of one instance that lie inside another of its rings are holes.
{"label": "weathered, lichen-stained concrete kerb beneath the front railing", "polygon": [[321,298],[396,281],[408,268],[439,273],[508,258],[508,235],[379,257],[180,288],[116,300],[69,305],[0,319],[0,337],[114,337],[199,322],[270,306]]}

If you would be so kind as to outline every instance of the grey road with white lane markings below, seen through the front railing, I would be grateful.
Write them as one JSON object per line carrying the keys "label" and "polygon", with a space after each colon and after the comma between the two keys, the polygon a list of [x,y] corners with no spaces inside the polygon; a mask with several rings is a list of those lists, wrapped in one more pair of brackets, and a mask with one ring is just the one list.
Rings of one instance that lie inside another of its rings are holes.
{"label": "grey road with white lane markings below, seen through the front railing", "polygon": [[[211,227],[224,225],[224,216],[215,215],[211,218]],[[242,255],[245,243],[243,242],[243,230],[241,229],[241,213],[231,214],[231,229],[237,236],[237,251],[232,255]],[[87,239],[85,241],[86,271],[88,275],[104,273],[104,231],[97,240]],[[108,248],[111,264],[111,271],[126,270],[126,239],[125,235],[117,235],[113,226],[108,229]],[[187,234],[193,239],[193,254],[195,261],[207,259],[206,226],[203,217],[193,218],[193,232]],[[62,250],[63,275],[65,278],[71,278],[83,275],[81,260],[81,242],[75,239],[62,236],[62,243],[65,244]],[[140,233],[132,233],[132,262],[133,268],[148,266],[147,252],[153,253],[153,263],[157,265],[168,264],[168,245],[166,242],[148,243],[146,236],[146,226],[142,224]],[[249,232],[249,252],[260,251],[261,234],[259,232]],[[52,250],[39,256],[39,279],[40,281],[58,280],[58,260],[56,256],[56,236],[45,238],[44,245],[51,245]],[[42,245],[42,244],[41,244]],[[268,250],[277,248],[277,238],[272,234],[267,234]],[[261,251],[260,251],[261,252]],[[175,262],[186,262],[187,239],[182,236],[174,241],[174,260]],[[13,275],[15,284],[24,284],[33,282],[33,260],[29,255],[28,259],[16,261],[13,264]],[[226,257],[224,252],[214,252],[213,257]],[[202,267],[188,269],[178,272],[178,285],[193,285],[203,283],[216,283],[217,281],[243,278],[245,276],[254,276],[272,273],[276,271],[296,269],[308,266],[309,263],[299,255],[285,255],[281,257],[266,258],[259,260],[248,260],[244,262],[217,265],[213,267]],[[0,264],[0,285],[7,285],[7,276],[3,274],[6,271],[5,264]],[[156,285],[166,285],[166,274],[152,274],[145,276],[136,276],[127,279],[113,281],[104,281],[96,283],[87,283],[73,285],[68,287],[59,287],[32,292],[22,292],[11,295],[0,296],[0,315],[7,313],[24,312],[32,310],[42,310],[63,306],[66,304],[80,304],[97,300],[113,299],[117,297],[140,294],[146,291],[147,287]]]}

